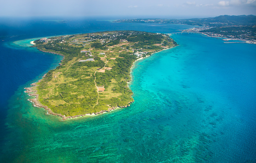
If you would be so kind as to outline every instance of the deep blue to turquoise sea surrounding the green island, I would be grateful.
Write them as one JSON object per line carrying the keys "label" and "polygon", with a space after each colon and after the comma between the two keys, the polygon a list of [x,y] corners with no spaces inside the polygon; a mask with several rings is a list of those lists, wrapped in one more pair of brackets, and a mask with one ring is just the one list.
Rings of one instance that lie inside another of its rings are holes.
{"label": "deep blue to turquoise sea surrounding the green island", "polygon": [[130,107],[62,121],[24,93],[62,60],[34,38],[192,26],[46,20],[0,18],[0,163],[256,163],[256,45],[173,35],[178,47],[134,64]]}

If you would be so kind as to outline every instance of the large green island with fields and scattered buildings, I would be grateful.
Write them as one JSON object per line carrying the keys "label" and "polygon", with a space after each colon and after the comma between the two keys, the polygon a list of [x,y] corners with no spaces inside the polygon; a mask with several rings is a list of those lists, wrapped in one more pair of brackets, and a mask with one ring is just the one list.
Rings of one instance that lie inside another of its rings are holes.
{"label": "large green island with fields and scattered buildings", "polygon": [[106,31],[42,38],[40,51],[64,56],[60,66],[25,88],[34,106],[66,118],[97,115],[127,107],[128,87],[138,59],[177,46],[168,35],[141,31]]}

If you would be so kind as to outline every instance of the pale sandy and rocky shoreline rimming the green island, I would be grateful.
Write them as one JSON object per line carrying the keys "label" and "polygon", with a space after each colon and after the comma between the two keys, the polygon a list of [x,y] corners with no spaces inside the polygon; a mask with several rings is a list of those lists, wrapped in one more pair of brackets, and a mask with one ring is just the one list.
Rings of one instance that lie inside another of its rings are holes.
{"label": "pale sandy and rocky shoreline rimming the green island", "polygon": [[[33,41],[31,42],[33,43]],[[33,43],[34,44],[34,43]],[[177,45],[176,45],[177,46]],[[175,45],[173,47],[176,47]],[[170,49],[170,48],[173,48],[173,47],[168,47],[168,48],[164,48],[160,51],[163,51],[163,50],[167,50],[167,49]],[[38,48],[37,48],[38,49]],[[51,51],[44,51],[44,50],[41,50],[41,49],[38,49],[39,51],[42,51],[42,52],[47,52],[47,53],[52,53],[52,54],[57,54],[57,55],[61,55],[63,56],[63,59],[61,60],[61,62],[63,62],[64,60],[64,55],[63,54],[60,54],[60,53],[57,53],[57,52],[51,52]],[[157,53],[157,52],[160,52],[160,51],[156,51],[154,53],[152,53],[151,55]],[[151,55],[147,55],[146,57],[141,57],[141,58],[138,58],[137,60],[135,60],[133,63],[132,63],[132,66],[130,68],[130,76],[131,76],[131,70],[134,68],[134,63],[139,61],[139,60],[142,60],[142,59],[145,59]],[[61,66],[62,63],[59,63],[59,65]],[[46,74],[43,75],[43,78],[46,76]],[[117,106],[117,107],[112,107],[112,108],[109,108],[108,110],[101,110],[100,112],[96,112],[96,113],[87,113],[87,114],[83,114],[83,115],[76,115],[76,116],[65,116],[65,115],[62,115],[62,114],[58,114],[58,113],[54,113],[48,106],[44,106],[42,105],[39,101],[38,101],[38,97],[39,95],[37,94],[37,91],[36,91],[36,86],[37,86],[37,83],[40,82],[42,79],[38,80],[37,82],[35,83],[32,83],[31,86],[32,87],[29,87],[29,88],[24,88],[26,91],[25,93],[28,93],[29,96],[35,96],[35,98],[31,98],[31,99],[28,99],[30,102],[33,103],[33,106],[34,107],[39,107],[39,108],[43,108],[47,111],[47,114],[50,114],[50,115],[54,115],[54,116],[60,116],[62,117],[62,120],[66,120],[68,118],[75,118],[75,117],[80,117],[80,116],[96,116],[96,115],[99,115],[99,114],[104,114],[104,113],[108,113],[112,110],[115,110],[117,108],[127,108],[128,106],[130,106],[130,104],[133,101],[131,101],[130,103],[128,103],[127,106]],[[131,80],[128,82],[128,85],[129,83],[131,82]]]}

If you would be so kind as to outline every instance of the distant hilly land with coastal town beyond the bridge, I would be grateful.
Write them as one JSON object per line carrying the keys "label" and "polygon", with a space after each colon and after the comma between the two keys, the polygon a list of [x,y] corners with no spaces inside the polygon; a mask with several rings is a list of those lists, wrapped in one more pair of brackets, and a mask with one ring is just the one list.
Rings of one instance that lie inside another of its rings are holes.
{"label": "distant hilly land with coastal town beyond the bridge", "polygon": [[222,15],[214,18],[194,19],[126,19],[116,23],[177,23],[197,25],[182,32],[199,32],[210,37],[223,37],[232,40],[241,40],[245,43],[256,44],[256,16]]}

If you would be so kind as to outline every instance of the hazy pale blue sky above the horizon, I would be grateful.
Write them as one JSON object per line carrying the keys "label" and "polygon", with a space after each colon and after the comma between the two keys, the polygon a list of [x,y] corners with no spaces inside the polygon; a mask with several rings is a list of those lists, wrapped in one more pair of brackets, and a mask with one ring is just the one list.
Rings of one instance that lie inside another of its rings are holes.
{"label": "hazy pale blue sky above the horizon", "polygon": [[256,0],[0,0],[0,17],[206,18],[256,15]]}

